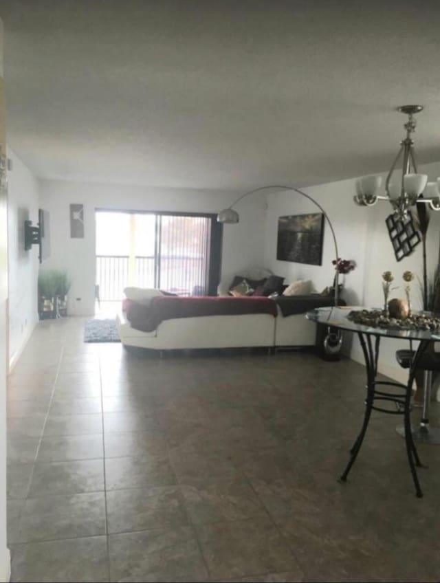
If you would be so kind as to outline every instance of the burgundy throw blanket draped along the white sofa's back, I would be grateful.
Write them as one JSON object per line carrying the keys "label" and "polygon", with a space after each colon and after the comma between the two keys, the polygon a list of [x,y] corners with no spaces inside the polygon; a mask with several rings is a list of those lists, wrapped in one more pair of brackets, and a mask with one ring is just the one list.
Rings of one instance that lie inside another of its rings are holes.
{"label": "burgundy throw blanket draped along the white sofa's back", "polygon": [[270,314],[276,316],[276,303],[263,296],[231,298],[229,296],[155,296],[148,305],[124,300],[126,319],[136,330],[152,332],[160,322],[174,318],[200,316],[243,316]]}

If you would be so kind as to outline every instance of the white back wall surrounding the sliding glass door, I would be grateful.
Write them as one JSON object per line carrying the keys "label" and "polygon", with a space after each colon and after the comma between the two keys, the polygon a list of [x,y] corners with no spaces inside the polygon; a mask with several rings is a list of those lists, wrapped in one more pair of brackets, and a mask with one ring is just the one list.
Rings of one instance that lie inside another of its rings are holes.
{"label": "white back wall surrounding the sliding glass door", "polygon": [[[63,268],[72,279],[68,313],[94,313],[95,286],[95,209],[168,210],[218,212],[234,201],[225,192],[202,192],[176,188],[142,188],[103,184],[81,184],[43,180],[41,208],[50,212],[51,258],[43,267]],[[69,204],[83,203],[85,238],[69,236]],[[239,228],[225,225],[222,278],[231,278],[246,267],[262,265],[264,209],[262,197],[243,201],[243,221]],[[115,233],[115,236],[118,236]],[[81,298],[77,300],[76,298]]]}

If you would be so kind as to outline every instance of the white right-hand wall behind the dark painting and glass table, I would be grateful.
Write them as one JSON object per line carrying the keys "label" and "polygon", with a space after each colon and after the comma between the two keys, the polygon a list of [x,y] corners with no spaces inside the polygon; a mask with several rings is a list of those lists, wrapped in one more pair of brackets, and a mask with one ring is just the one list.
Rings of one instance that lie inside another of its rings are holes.
{"label": "white right-hand wall behind the dark painting and glass table", "polygon": [[[440,175],[440,163],[421,166],[419,172],[427,173],[430,180]],[[305,192],[314,197],[329,215],[338,240],[339,256],[342,259],[352,259],[356,269],[342,276],[344,283],[343,298],[349,305],[364,305],[382,307],[384,303],[382,292],[382,273],[391,270],[395,274],[395,289],[391,297],[404,298],[404,287],[401,274],[410,270],[420,278],[422,274],[421,244],[415,252],[397,263],[391,241],[386,230],[385,219],[391,214],[388,203],[379,202],[373,208],[358,207],[353,202],[355,179],[322,184],[306,188]],[[335,257],[333,240],[328,225],[325,225],[324,251],[322,267],[289,263],[276,260],[276,236],[278,217],[286,214],[303,212],[319,212],[307,199],[295,192],[277,192],[267,196],[267,216],[265,229],[265,264],[274,273],[285,276],[285,283],[296,279],[307,278],[314,282],[316,290],[322,291],[333,283],[334,270],[331,261]],[[439,226],[440,212],[431,212],[431,223],[428,229],[428,265],[434,269],[439,258]],[[414,309],[421,305],[419,285],[412,284]],[[405,373],[395,362],[395,351],[403,348],[402,342],[382,340],[379,369],[383,373],[398,380],[404,380]],[[405,345],[406,347],[406,345]],[[353,360],[364,362],[358,340],[347,347]]]}

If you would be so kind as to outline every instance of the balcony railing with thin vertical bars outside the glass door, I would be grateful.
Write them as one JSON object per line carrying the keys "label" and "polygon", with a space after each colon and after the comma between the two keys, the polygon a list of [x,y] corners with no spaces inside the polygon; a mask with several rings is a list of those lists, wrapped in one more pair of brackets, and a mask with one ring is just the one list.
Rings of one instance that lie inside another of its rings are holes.
{"label": "balcony railing with thin vertical bars outside the glass door", "polygon": [[[137,287],[159,287],[179,296],[206,294],[206,260],[203,257],[162,256],[156,274],[154,256],[135,256]],[[130,280],[128,255],[97,255],[96,283],[101,301],[122,300]],[[159,281],[159,286],[157,285]]]}

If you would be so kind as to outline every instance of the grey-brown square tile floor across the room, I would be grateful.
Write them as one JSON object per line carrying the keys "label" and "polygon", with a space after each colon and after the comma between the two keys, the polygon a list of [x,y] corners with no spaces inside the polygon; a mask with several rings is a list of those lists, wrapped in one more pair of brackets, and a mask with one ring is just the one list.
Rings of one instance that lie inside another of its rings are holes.
{"label": "grey-brown square tile floor across the room", "polygon": [[440,580],[440,447],[419,448],[420,500],[398,419],[376,414],[337,481],[362,366],[159,359],[84,344],[83,323],[39,325],[10,377],[15,582]]}

